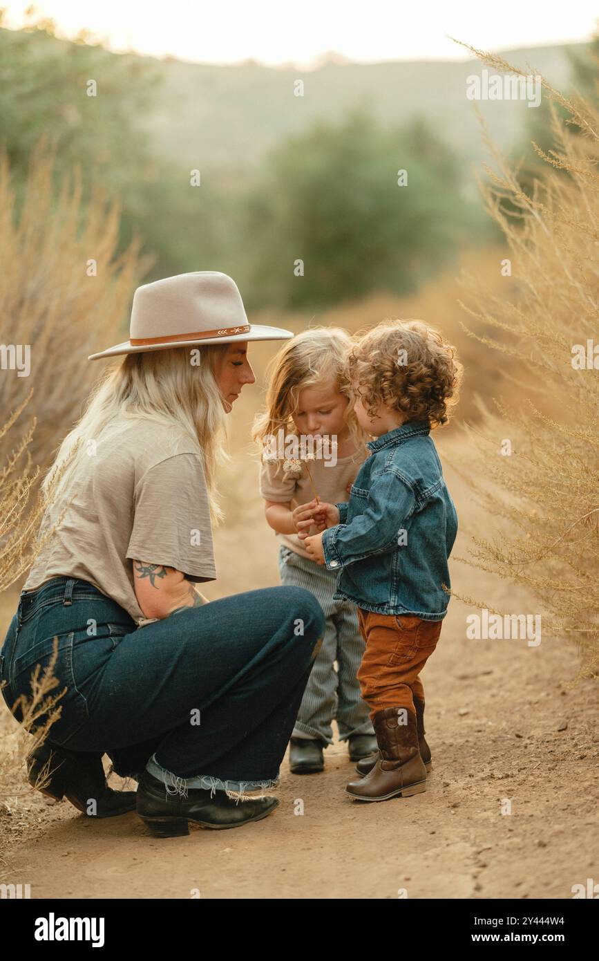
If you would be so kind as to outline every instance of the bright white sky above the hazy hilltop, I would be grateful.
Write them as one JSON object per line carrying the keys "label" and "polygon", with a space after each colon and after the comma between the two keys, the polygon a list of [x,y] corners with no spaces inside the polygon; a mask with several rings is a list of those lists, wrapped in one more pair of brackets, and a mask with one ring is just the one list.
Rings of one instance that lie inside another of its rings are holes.
{"label": "bright white sky above the hazy hilltop", "polygon": [[[4,0],[4,25],[22,26],[30,5]],[[358,62],[464,59],[446,35],[505,50],[587,40],[599,22],[593,0],[37,0],[35,8],[60,36],[86,28],[115,51],[303,67],[327,51]]]}

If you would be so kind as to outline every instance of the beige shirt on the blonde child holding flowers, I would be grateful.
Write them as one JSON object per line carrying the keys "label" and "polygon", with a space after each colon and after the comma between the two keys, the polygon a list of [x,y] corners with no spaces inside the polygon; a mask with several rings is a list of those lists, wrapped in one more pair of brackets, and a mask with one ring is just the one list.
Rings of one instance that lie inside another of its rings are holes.
{"label": "beige shirt on the blonde child holding flowers", "polygon": [[[300,504],[313,501],[315,490],[321,501],[326,501],[328,504],[341,504],[349,500],[349,487],[356,479],[364,461],[370,456],[371,452],[365,446],[355,454],[338,457],[334,466],[327,466],[323,459],[310,461],[309,468],[314,486],[304,462],[301,462],[301,474],[296,477],[294,474],[283,471],[282,460],[265,461],[260,464],[259,470],[260,494],[265,501],[290,504],[292,510]],[[311,532],[316,533],[316,528]],[[302,557],[308,557],[304,542],[299,540],[297,534],[279,534],[277,531],[274,533],[281,538],[286,547]]]}

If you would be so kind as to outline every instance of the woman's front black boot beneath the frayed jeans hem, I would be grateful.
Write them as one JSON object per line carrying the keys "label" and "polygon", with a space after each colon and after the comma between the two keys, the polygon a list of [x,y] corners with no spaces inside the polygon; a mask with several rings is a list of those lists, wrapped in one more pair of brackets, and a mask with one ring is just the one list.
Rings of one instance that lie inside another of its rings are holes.
{"label": "woman's front black boot beneath the frayed jeans hem", "polygon": [[273,811],[277,798],[249,798],[236,801],[225,791],[188,788],[187,797],[169,794],[166,785],[149,771],[144,771],[137,787],[137,814],[156,837],[180,837],[189,834],[188,821],[212,830],[241,827],[261,821]]}

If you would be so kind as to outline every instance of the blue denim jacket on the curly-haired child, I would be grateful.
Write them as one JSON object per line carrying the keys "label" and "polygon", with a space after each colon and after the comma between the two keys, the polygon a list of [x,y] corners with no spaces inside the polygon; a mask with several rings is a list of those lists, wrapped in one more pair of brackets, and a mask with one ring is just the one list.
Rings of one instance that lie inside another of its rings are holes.
{"label": "blue denim jacket on the curly-haired child", "polygon": [[441,621],[451,586],[447,558],[458,515],[428,421],[407,421],[368,444],[340,523],[323,531],[335,598],[379,614]]}

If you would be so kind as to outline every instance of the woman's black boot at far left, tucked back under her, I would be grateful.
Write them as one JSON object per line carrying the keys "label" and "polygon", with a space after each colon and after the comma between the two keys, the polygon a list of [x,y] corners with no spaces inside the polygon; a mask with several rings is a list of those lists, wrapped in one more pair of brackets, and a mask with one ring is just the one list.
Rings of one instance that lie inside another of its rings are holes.
{"label": "woman's black boot at far left, tucked back under her", "polygon": [[[46,742],[28,755],[27,779],[48,798],[66,798],[88,818],[112,818],[135,810],[134,791],[108,787],[101,753],[68,751]],[[93,814],[88,813],[90,801],[95,801]]]}

